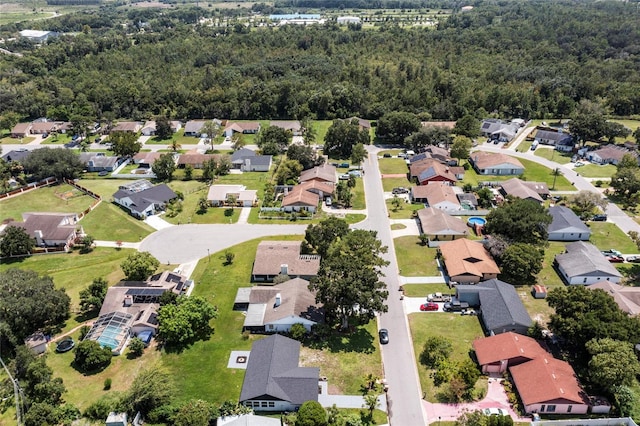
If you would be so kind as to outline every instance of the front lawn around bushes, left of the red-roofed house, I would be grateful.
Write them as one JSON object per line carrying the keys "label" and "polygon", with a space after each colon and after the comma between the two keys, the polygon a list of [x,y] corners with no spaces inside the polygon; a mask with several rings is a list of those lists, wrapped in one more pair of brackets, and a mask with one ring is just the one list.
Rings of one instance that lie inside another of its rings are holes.
{"label": "front lawn around bushes, left of the red-roofed house", "polygon": [[[433,384],[433,380],[430,377],[431,370],[417,361],[417,358],[420,357],[420,353],[422,352],[424,342],[427,337],[431,336],[445,337],[453,346],[450,360],[463,361],[469,357],[469,351],[472,349],[473,341],[477,338],[484,337],[480,320],[478,317],[471,315],[415,313],[409,315],[409,327],[413,338],[413,348],[416,355],[416,364],[422,391],[426,393],[427,401],[440,402],[438,401],[437,395],[441,391],[441,388]],[[486,381],[481,378],[476,388],[483,386],[486,388]]]}

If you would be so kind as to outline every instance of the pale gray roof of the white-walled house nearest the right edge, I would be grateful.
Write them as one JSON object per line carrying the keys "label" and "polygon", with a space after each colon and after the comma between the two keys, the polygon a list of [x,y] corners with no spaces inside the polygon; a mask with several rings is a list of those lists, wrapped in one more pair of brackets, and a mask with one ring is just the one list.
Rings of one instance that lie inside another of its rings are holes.
{"label": "pale gray roof of the white-walled house nearest the right edge", "polygon": [[556,256],[558,265],[569,277],[599,275],[621,277],[600,250],[591,243],[576,241],[566,245],[567,252]]}

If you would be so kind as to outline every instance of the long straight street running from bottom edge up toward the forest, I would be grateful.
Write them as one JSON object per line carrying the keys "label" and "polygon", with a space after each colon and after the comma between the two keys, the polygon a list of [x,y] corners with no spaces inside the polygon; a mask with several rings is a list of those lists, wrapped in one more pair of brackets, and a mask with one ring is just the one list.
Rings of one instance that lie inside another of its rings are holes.
{"label": "long straight street running from bottom edge up toward the forest", "polygon": [[380,316],[380,328],[389,330],[389,344],[381,346],[384,374],[389,384],[387,408],[392,426],[414,426],[427,424],[422,410],[420,385],[416,358],[407,316],[398,291],[398,263],[396,261],[391,227],[382,191],[382,180],[378,169],[377,149],[368,146],[369,158],[365,159],[365,196],[369,214],[356,226],[378,232],[378,238],[389,251],[383,257],[389,266],[383,269],[384,282],[389,290],[389,311]]}

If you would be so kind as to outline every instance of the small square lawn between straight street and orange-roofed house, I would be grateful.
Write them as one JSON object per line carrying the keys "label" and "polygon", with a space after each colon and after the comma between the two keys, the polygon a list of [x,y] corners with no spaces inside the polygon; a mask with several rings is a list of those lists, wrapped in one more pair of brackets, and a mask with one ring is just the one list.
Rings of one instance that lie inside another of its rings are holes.
{"label": "small square lawn between straight street and orange-roofed house", "polygon": [[405,277],[440,275],[436,262],[436,249],[420,244],[418,237],[406,236],[393,240],[400,275]]}

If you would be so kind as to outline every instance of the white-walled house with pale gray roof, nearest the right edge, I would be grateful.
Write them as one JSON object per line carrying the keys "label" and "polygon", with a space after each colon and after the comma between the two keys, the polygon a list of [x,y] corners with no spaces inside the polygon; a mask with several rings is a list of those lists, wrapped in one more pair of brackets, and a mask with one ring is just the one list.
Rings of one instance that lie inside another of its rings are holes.
{"label": "white-walled house with pale gray roof, nearest the right edge", "polygon": [[622,275],[596,246],[584,241],[566,245],[566,252],[555,257],[554,266],[570,285],[589,285],[598,281],[620,282]]}

